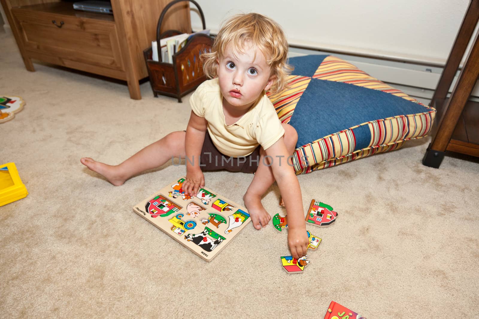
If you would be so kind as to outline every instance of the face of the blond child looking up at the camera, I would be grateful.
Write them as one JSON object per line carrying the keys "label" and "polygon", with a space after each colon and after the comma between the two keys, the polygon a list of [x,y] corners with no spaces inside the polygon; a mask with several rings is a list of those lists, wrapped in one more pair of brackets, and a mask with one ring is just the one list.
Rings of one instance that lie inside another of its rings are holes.
{"label": "face of the blond child looking up at the camera", "polygon": [[[260,49],[246,43],[245,53],[233,54],[231,45],[218,60],[218,79],[223,103],[247,110],[273,84],[271,68]],[[256,56],[254,56],[256,53]]]}

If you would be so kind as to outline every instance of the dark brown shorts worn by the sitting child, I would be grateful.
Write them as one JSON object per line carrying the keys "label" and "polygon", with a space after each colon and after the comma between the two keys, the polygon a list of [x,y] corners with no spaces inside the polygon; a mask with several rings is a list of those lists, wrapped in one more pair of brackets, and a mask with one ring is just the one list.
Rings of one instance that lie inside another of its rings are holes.
{"label": "dark brown shorts worn by the sitting child", "polygon": [[202,171],[216,171],[226,169],[231,172],[254,173],[260,163],[260,148],[256,147],[253,153],[247,156],[231,157],[218,151],[211,140],[208,131],[205,134],[205,142],[200,155],[200,167]]}

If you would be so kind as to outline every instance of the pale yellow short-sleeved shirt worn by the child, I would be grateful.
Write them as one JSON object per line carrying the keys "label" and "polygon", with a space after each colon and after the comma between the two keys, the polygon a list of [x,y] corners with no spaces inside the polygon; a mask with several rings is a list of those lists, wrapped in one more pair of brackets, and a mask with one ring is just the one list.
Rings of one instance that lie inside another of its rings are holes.
{"label": "pale yellow short-sleeved shirt worn by the child", "polygon": [[191,96],[190,105],[196,115],[207,121],[208,132],[217,149],[228,156],[249,155],[258,145],[266,150],[285,134],[266,94],[236,123],[226,125],[218,78],[203,82]]}

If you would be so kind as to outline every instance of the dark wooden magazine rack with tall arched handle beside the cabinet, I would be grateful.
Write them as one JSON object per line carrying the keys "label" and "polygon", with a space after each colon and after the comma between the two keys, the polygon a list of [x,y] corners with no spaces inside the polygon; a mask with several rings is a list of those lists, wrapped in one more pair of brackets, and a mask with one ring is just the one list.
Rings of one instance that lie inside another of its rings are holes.
{"label": "dark wooden magazine rack with tall arched handle beside the cabinet", "polygon": [[[160,44],[160,39],[182,34],[178,30],[168,30],[160,34],[161,22],[163,22],[166,11],[175,3],[181,1],[184,0],[171,1],[161,12],[156,31],[157,44]],[[194,0],[190,0],[190,2],[193,2],[198,8],[203,23],[203,30],[205,30],[205,15],[201,7]],[[177,98],[178,102],[181,102],[182,96],[190,93],[206,80],[200,55],[204,52],[210,52],[212,45],[213,39],[209,35],[196,33],[180,51],[173,55],[172,64],[161,61],[160,54],[159,61],[153,61],[151,47],[143,51],[153,95],[155,97],[158,97],[158,94],[171,96]]]}

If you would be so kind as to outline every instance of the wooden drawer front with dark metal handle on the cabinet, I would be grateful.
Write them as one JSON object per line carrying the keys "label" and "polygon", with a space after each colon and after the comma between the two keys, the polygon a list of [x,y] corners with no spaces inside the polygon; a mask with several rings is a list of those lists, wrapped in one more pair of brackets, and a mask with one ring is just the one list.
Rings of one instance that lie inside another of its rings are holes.
{"label": "wooden drawer front with dark metal handle on the cabinet", "polygon": [[12,9],[12,13],[21,26],[25,50],[32,57],[54,56],[57,64],[86,71],[91,70],[81,66],[98,66],[94,73],[99,74],[111,73],[105,68],[124,70],[114,21],[22,8]]}

